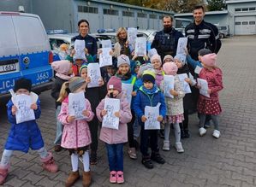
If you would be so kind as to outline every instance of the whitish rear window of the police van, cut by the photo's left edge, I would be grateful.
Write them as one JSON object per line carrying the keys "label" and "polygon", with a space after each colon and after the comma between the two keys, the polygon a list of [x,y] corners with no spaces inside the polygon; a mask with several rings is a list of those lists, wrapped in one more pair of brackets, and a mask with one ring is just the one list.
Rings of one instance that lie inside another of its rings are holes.
{"label": "whitish rear window of the police van, cut by the photo's left edge", "polygon": [[11,56],[17,54],[15,30],[11,16],[0,15],[0,23],[1,26],[4,26],[4,29],[0,29],[0,56]]}

